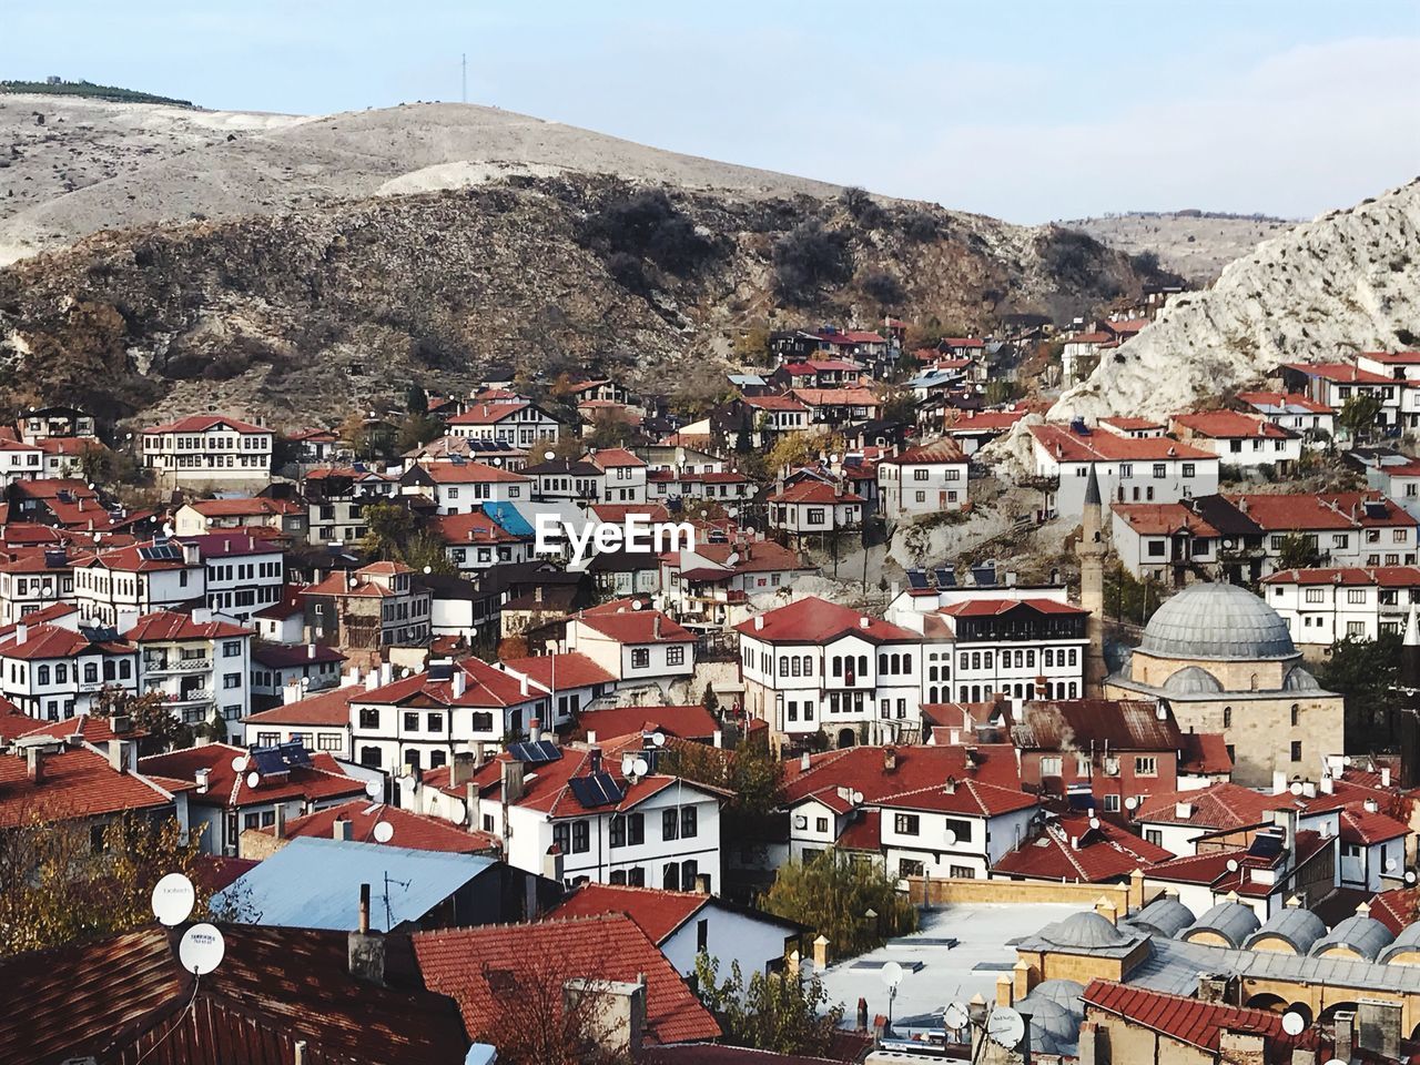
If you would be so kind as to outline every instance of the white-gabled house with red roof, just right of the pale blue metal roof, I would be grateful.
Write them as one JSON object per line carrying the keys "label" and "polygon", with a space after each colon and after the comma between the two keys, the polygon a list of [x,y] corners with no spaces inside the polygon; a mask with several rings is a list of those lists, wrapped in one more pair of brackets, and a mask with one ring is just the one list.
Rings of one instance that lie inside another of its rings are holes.
{"label": "white-gabled house with red roof, just right of the pale blue metal roof", "polygon": [[687,980],[704,954],[721,973],[738,966],[744,978],[754,973],[784,971],[791,951],[804,953],[808,932],[784,917],[740,906],[713,895],[666,892],[659,888],[585,883],[548,912],[550,920],[622,913],[660,947],[660,953]]}

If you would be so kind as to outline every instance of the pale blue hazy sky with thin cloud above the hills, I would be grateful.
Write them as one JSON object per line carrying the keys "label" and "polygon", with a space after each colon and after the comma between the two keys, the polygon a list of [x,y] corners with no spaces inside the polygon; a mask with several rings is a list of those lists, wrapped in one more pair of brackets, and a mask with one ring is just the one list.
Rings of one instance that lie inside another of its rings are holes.
{"label": "pale blue hazy sky with thin cloud above the hills", "polygon": [[0,77],[469,99],[1014,222],[1309,217],[1420,173],[1416,0],[0,0]]}

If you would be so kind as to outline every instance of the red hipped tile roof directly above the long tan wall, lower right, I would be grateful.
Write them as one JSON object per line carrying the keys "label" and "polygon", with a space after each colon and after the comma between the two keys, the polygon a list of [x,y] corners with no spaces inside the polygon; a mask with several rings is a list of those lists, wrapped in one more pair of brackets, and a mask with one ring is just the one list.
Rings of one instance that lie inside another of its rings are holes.
{"label": "red hipped tile roof directly above the long tan wall, lower right", "polygon": [[1118,825],[1098,818],[1096,822],[1092,826],[1089,818],[1061,818],[1058,825],[1003,855],[991,872],[1032,880],[1108,883],[1173,858],[1173,852]]}

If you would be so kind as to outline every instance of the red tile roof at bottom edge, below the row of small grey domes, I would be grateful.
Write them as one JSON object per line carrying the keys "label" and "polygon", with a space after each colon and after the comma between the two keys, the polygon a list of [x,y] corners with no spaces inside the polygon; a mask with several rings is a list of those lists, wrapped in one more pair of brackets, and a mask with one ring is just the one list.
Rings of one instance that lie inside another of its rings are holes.
{"label": "red tile roof at bottom edge, below the row of small grey domes", "polygon": [[1091,981],[1081,998],[1086,1017],[1092,1010],[1099,1010],[1210,1054],[1218,1052],[1223,1034],[1230,1031],[1264,1035],[1271,1047],[1285,1047],[1288,1052],[1295,1047],[1316,1045],[1315,1030],[1308,1028],[1296,1037],[1288,1035],[1282,1030],[1282,1015],[1268,1010],[1204,1003],[1106,980]]}

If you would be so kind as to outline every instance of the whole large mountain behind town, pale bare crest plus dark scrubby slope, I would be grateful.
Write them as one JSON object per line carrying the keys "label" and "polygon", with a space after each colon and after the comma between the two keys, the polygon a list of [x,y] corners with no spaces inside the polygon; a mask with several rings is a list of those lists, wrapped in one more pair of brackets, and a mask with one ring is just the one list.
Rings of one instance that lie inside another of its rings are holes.
{"label": "whole large mountain behind town, pale bare crest plus dark scrubby slope", "polygon": [[0,270],[0,403],[295,426],[491,365],[666,392],[714,385],[754,324],[1068,320],[1150,280],[1075,231],[491,108],[222,121],[243,128],[175,126],[148,160],[0,222],[0,241],[48,248]]}

